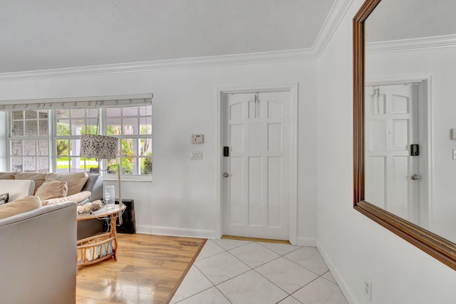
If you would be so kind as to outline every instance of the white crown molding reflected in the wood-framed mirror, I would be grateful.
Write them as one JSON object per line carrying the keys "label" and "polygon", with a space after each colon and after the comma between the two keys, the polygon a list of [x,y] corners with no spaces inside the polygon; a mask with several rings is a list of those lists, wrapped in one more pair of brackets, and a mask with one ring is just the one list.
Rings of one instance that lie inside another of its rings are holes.
{"label": "white crown molding reflected in the wood-framed mirror", "polygon": [[456,46],[456,34],[366,43],[366,53],[418,51]]}

